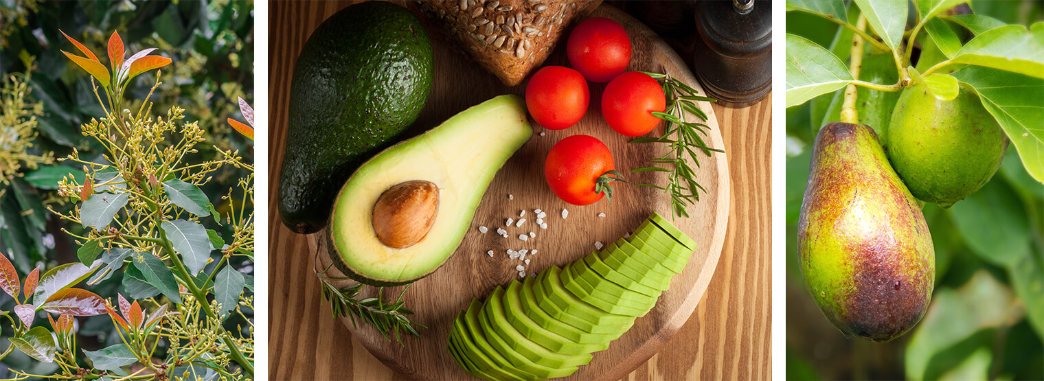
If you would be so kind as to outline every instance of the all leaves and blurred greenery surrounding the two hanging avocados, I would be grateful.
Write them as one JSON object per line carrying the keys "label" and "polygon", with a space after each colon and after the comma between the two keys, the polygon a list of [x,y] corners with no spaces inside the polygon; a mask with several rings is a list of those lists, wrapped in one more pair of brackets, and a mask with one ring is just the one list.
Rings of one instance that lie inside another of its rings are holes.
{"label": "all leaves and blurred greenery surrounding the two hanging avocados", "polygon": [[[870,3],[873,5],[868,5]],[[879,14],[877,23],[873,17],[868,18],[872,26],[868,32],[899,30],[896,42],[904,41],[902,30],[912,29],[921,20],[917,15],[919,10],[923,16],[931,5],[949,7],[957,2],[914,1],[905,26],[903,23],[888,25],[888,18],[880,17],[886,10],[876,7],[884,3],[891,2],[854,1],[847,8],[841,1],[787,2],[788,7],[840,4],[837,8],[822,7],[816,13],[834,14],[838,16],[835,20],[847,20],[853,25],[859,15],[858,8],[868,5],[874,8],[871,13]],[[915,5],[919,7],[915,8]],[[919,34],[918,49],[911,52],[910,65],[917,69],[907,69],[910,76],[916,77],[920,73],[915,72],[927,73],[941,62],[966,59],[958,58],[962,49],[979,49],[981,54],[976,54],[975,59],[978,61],[973,65],[941,67],[935,69],[934,74],[946,73],[946,76],[977,89],[983,105],[992,109],[991,114],[998,118],[1013,146],[1007,150],[1000,170],[981,190],[950,209],[925,205],[923,211],[935,252],[936,284],[932,303],[924,319],[909,334],[884,344],[841,337],[820,316],[801,278],[796,247],[797,221],[808,180],[811,145],[818,127],[834,121],[828,118],[837,118],[836,113],[833,113],[834,117],[826,116],[827,104],[835,96],[844,96],[843,88],[847,84],[844,78],[849,75],[847,64],[853,33],[850,29],[838,27],[837,21],[828,21],[812,11],[787,13],[787,33],[804,39],[806,47],[818,45],[818,52],[836,57],[839,71],[833,70],[837,68],[831,68],[830,64],[824,64],[822,69],[823,73],[834,73],[841,78],[839,86],[830,85],[835,86],[832,89],[841,90],[827,90],[815,95],[799,94],[801,99],[809,101],[791,102],[790,93],[787,94],[787,105],[790,106],[786,114],[786,363],[789,379],[1044,378],[1044,185],[1030,174],[1033,171],[1039,173],[1044,168],[1044,162],[1034,159],[1039,158],[1034,150],[1044,146],[1044,143],[1041,143],[1040,136],[1035,136],[1039,133],[1017,129],[1019,123],[1027,121],[1039,124],[1044,115],[1041,114],[1044,109],[1040,103],[1041,97],[1035,97],[1035,94],[1044,94],[1044,80],[1040,78],[1044,71],[1035,71],[1044,65],[1041,64],[1044,50],[1035,45],[1039,44],[1040,33],[1044,32],[1044,24],[1039,23],[1042,20],[1041,4],[1034,1],[973,1],[971,8],[975,16],[944,16],[925,23],[922,30],[927,31]],[[904,16],[902,20],[907,20],[905,13],[901,15]],[[1034,27],[1029,28],[1031,24]],[[1005,41],[997,44],[1009,45],[976,47],[970,42],[975,35],[987,32],[1003,32],[1005,37],[1031,34],[1037,43],[999,39]],[[882,41],[874,44],[891,47],[891,39],[885,34],[895,33],[879,34]],[[870,54],[884,51],[876,45],[868,48],[864,62],[876,57]],[[998,48],[1011,49],[1013,54],[1020,56],[1006,66],[993,68],[997,65],[991,56]],[[788,58],[790,49],[788,46]],[[991,52],[990,49],[994,50]],[[820,62],[827,63],[829,59]],[[897,67],[892,65],[891,70],[895,72]],[[878,77],[860,75],[859,79],[872,81],[874,79],[868,78]],[[894,75],[892,79],[896,79]],[[923,77],[917,79],[923,80]],[[1000,81],[989,84],[991,80]],[[787,81],[790,88],[790,75]],[[808,81],[806,85],[812,82],[825,84]],[[934,86],[934,90],[945,97],[949,90],[955,90],[951,86],[956,82],[942,78],[930,86]],[[876,84],[881,88],[892,85]],[[863,88],[860,88],[857,108],[865,105],[861,104],[864,94]],[[1022,106],[1019,102],[1036,104]],[[993,112],[999,110],[1007,111],[1013,119],[1001,120],[998,115],[1002,113]],[[879,129],[881,126],[873,127]],[[1028,161],[1025,158],[1029,158]]]}

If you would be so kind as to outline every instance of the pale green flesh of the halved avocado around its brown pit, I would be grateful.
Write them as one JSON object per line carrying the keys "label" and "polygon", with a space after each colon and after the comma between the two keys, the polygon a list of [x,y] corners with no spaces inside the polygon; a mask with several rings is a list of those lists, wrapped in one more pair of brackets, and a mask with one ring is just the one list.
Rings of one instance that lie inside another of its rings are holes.
{"label": "pale green flesh of the halved avocado around its brown pit", "polygon": [[[531,135],[523,99],[502,95],[377,154],[349,178],[334,204],[329,227],[334,264],[377,286],[430,275],[459,245],[497,170]],[[385,246],[374,231],[374,204],[392,186],[414,180],[438,187],[431,230],[411,246]]]}

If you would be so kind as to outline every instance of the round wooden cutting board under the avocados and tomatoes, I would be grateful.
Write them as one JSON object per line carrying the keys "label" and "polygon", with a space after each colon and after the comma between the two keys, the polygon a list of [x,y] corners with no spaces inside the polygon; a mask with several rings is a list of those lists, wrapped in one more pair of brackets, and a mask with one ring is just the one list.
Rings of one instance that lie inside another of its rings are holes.
{"label": "round wooden cutting board under the avocados and tomatoes", "polygon": [[[666,70],[671,76],[701,90],[678,54],[641,22],[609,5],[600,6],[591,17],[616,20],[631,34],[633,53],[627,70]],[[559,44],[544,65],[569,66],[564,46],[564,42]],[[452,52],[444,42],[432,39],[432,47],[435,52],[434,85],[425,111],[418,119],[418,132],[434,127],[450,116],[494,96],[524,94],[524,82],[514,88],[505,87],[477,64]],[[468,307],[472,299],[484,299],[497,286],[506,285],[512,279],[519,278],[516,265],[523,263],[509,259],[506,249],[539,251],[537,255],[526,256],[530,259],[526,266],[528,276],[551,265],[562,266],[590,254],[595,249],[595,241],[603,244],[616,241],[633,232],[654,211],[668,219],[671,217],[670,197],[654,188],[614,183],[616,194],[612,205],[602,199],[590,206],[576,207],[560,200],[547,187],[543,174],[544,158],[559,140],[577,134],[590,135],[606,143],[613,153],[616,169],[623,172],[627,181],[657,185],[666,183],[664,172],[627,174],[631,169],[648,166],[649,161],[662,156],[666,148],[659,143],[628,143],[630,138],[610,128],[599,111],[604,84],[590,86],[591,106],[578,124],[563,130],[550,130],[530,119],[533,126],[532,138],[497,173],[453,257],[441,269],[413,283],[406,291],[406,306],[417,312],[413,318],[428,327],[419,329],[422,337],[405,335],[403,343],[399,344],[385,339],[373,327],[359,325],[357,329],[353,329],[348,317],[341,319],[352,334],[388,367],[419,379],[470,378],[450,357],[446,349],[447,336],[453,318],[457,312]],[[715,148],[723,147],[717,119],[710,104],[703,102],[699,109],[709,116],[706,122],[710,125],[708,144]],[[694,115],[689,115],[688,118],[698,120]],[[662,123],[651,136],[661,135]],[[702,157],[696,173],[707,193],[701,195],[701,200],[695,206],[689,207],[691,218],[677,218],[673,221],[698,244],[689,258],[688,265],[684,271],[674,276],[670,288],[663,292],[648,314],[639,317],[634,327],[613,341],[608,350],[596,352],[591,362],[580,366],[571,378],[591,380],[624,377],[651,357],[688,320],[702,300],[717,266],[729,218],[726,154]],[[540,229],[533,221],[535,209],[547,212],[546,230]],[[566,219],[562,218],[563,209],[569,210]],[[507,218],[517,220],[522,210],[526,211],[524,218],[527,221],[524,224],[504,225]],[[599,217],[599,213],[604,213],[606,216]],[[481,234],[478,227],[487,227],[490,232]],[[504,228],[508,237],[497,235],[497,228]],[[520,234],[529,232],[535,232],[536,237],[527,241],[518,238]],[[331,261],[326,253],[325,241],[325,233],[314,234],[309,239],[311,249],[318,251],[316,258],[319,268],[327,267]],[[495,252],[493,258],[487,255],[487,251],[491,249]],[[330,270],[329,276],[342,277],[335,268]],[[343,285],[348,284],[350,283],[345,282]],[[366,287],[363,294],[376,295],[376,290],[375,287]],[[401,291],[402,286],[389,287],[384,290],[384,296],[390,299]],[[328,306],[326,302],[324,306]]]}

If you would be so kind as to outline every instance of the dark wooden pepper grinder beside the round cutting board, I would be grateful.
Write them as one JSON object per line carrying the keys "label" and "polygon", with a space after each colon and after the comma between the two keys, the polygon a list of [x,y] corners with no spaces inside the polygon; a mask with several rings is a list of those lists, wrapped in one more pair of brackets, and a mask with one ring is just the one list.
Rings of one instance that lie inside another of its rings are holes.
{"label": "dark wooden pepper grinder beside the round cutting board", "polygon": [[758,102],[772,89],[772,3],[704,0],[696,4],[693,71],[708,96],[729,108]]}

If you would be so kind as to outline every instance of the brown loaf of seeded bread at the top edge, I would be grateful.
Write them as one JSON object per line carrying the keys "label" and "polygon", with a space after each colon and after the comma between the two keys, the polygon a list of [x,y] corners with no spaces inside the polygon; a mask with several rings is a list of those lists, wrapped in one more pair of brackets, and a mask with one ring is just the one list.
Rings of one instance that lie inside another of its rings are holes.
{"label": "brown loaf of seeded bread at the top edge", "polygon": [[522,82],[554,50],[563,30],[601,0],[408,1],[454,47],[507,86]]}

